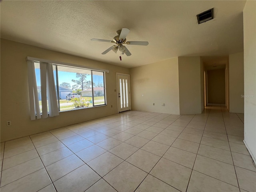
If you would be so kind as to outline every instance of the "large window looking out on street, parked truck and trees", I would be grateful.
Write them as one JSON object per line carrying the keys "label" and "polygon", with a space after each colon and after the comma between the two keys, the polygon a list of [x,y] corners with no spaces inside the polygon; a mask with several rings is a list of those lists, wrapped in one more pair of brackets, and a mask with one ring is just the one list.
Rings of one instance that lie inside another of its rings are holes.
{"label": "large window looking out on street, parked truck and trees", "polygon": [[[34,62],[40,112],[42,93],[40,63]],[[106,104],[105,72],[52,64],[59,111],[88,108]],[[48,108],[48,99],[47,99]]]}

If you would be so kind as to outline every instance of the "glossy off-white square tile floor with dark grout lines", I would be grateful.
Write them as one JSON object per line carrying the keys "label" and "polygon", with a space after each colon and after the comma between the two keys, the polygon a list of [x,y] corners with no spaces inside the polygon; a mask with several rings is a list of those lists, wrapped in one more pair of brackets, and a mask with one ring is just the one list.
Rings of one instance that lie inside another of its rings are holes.
{"label": "glossy off-white square tile floor with dark grout lines", "polygon": [[1,192],[255,192],[243,115],[127,111],[1,143]]}

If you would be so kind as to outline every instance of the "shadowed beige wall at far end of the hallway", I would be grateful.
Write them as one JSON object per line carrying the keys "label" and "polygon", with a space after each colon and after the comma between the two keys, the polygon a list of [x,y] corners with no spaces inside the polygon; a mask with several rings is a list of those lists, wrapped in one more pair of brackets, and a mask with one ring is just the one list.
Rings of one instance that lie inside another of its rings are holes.
{"label": "shadowed beige wall at far end of the hallway", "polygon": [[225,103],[225,69],[207,71],[208,103]]}

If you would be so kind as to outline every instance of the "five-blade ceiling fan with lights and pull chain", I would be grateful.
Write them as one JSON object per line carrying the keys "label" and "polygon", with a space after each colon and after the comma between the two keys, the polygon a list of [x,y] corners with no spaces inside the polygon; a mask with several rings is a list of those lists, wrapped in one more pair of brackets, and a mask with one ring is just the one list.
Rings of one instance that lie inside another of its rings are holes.
{"label": "five-blade ceiling fan with lights and pull chain", "polygon": [[[113,40],[91,39],[91,41],[102,41],[102,42],[110,42],[110,43],[116,44],[108,48],[106,51],[102,52],[103,55],[108,53],[110,50],[113,50],[115,53],[117,52],[117,50],[119,50],[121,54],[126,54],[127,56],[130,56],[132,54],[123,44],[146,46],[148,45],[148,42],[147,41],[127,41],[126,42],[126,36],[128,35],[129,32],[130,30],[128,28],[122,28],[122,30],[118,30],[116,32],[117,36],[114,36]],[[121,56],[120,56],[120,60],[121,60]]]}

